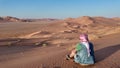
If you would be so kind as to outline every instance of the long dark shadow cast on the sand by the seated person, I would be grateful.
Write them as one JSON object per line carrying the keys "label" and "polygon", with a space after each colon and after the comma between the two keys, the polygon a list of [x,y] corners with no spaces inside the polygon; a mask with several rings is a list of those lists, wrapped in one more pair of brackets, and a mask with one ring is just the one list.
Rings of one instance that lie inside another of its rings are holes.
{"label": "long dark shadow cast on the sand by the seated person", "polygon": [[106,59],[107,57],[109,57],[110,55],[114,54],[118,50],[120,50],[120,44],[96,50],[95,51],[95,61],[100,62],[100,61]]}

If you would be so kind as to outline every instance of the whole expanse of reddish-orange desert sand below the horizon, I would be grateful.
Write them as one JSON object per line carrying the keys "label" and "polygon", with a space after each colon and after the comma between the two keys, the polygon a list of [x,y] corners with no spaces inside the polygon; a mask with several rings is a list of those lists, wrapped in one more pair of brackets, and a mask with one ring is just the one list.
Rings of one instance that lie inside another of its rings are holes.
{"label": "whole expanse of reddish-orange desert sand below the horizon", "polygon": [[[0,23],[0,68],[120,68],[120,26],[115,22],[82,17],[51,23]],[[65,59],[81,33],[88,33],[94,44],[92,66]]]}

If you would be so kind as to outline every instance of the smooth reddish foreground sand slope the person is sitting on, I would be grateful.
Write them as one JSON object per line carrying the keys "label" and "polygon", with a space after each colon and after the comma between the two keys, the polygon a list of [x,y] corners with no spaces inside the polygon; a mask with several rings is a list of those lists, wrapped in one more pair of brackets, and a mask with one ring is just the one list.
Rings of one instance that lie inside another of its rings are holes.
{"label": "smooth reddish foreground sand slope the person is sitting on", "polygon": [[[40,39],[34,40],[40,41]],[[96,63],[88,68],[119,68],[119,40],[119,34],[93,40]],[[32,44],[36,42],[32,39],[25,41],[31,45],[20,46],[15,43],[11,47],[0,47],[0,68],[82,68],[79,64],[65,60],[65,55],[70,52],[69,47],[72,43],[60,47],[56,45],[41,47]],[[1,40],[1,42],[4,41]],[[22,39],[19,43],[23,43]]]}

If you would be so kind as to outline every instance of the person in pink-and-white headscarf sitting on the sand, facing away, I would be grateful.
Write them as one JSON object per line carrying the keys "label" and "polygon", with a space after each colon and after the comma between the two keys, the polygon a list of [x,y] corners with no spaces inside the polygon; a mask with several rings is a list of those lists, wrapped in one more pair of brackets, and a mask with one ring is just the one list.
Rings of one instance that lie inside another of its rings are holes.
{"label": "person in pink-and-white headscarf sitting on the sand, facing away", "polygon": [[74,62],[81,65],[91,65],[95,63],[94,49],[92,43],[89,42],[88,35],[81,34],[80,42],[77,44],[66,58],[69,60],[74,58]]}

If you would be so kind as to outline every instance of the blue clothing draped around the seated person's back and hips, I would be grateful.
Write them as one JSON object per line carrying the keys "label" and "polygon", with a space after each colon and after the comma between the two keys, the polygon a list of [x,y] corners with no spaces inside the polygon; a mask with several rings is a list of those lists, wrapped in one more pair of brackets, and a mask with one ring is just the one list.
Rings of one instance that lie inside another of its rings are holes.
{"label": "blue clothing draped around the seated person's back and hips", "polygon": [[95,58],[94,58],[94,49],[92,43],[89,43],[90,45],[90,56],[88,57],[87,48],[84,44],[79,43],[79,46],[81,46],[81,50],[77,51],[76,55],[74,56],[74,61],[76,63],[80,64],[94,64]]}

